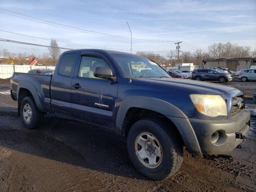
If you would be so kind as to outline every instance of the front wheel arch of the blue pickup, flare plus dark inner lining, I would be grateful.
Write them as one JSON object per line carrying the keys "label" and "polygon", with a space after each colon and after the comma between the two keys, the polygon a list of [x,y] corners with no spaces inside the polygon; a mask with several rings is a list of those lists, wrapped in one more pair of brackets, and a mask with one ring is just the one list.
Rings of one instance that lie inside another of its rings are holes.
{"label": "front wheel arch of the blue pickup, flare plus dark inner lining", "polygon": [[196,134],[188,117],[176,106],[157,98],[126,96],[122,100],[116,116],[116,132],[126,136],[132,124],[144,117],[161,118],[177,129],[190,153],[194,155],[201,153]]}

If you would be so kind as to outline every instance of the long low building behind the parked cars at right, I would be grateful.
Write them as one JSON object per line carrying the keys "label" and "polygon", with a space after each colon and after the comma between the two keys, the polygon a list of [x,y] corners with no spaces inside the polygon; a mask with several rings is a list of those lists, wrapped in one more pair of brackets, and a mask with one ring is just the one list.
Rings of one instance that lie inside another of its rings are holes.
{"label": "long low building behind the parked cars at right", "polygon": [[231,71],[239,71],[243,66],[256,65],[256,57],[245,58],[208,58],[203,59],[204,68],[208,67],[220,67],[228,68]]}

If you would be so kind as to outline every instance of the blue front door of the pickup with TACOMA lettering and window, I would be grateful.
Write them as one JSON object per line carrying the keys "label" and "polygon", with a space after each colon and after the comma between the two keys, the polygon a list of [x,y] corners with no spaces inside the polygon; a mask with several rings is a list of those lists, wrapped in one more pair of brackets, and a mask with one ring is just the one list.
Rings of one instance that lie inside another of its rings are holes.
{"label": "blue front door of the pickup with TACOMA lettering and window", "polygon": [[114,129],[118,81],[96,78],[96,67],[113,67],[101,54],[83,52],[71,87],[73,118]]}

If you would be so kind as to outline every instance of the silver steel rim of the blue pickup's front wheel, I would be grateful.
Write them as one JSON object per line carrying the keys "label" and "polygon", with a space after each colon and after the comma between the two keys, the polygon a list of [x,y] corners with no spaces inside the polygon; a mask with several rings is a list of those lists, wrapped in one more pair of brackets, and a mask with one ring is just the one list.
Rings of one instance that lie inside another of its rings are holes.
{"label": "silver steel rim of the blue pickup's front wheel", "polygon": [[147,168],[156,168],[162,162],[162,146],[149,132],[142,132],[136,137],[134,150],[138,160]]}

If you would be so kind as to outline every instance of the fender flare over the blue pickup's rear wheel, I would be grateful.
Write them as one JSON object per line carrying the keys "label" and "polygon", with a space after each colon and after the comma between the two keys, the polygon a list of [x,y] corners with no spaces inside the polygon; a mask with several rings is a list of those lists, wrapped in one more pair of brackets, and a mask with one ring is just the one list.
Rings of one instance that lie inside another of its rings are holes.
{"label": "fender flare over the blue pickup's rear wheel", "polygon": [[42,102],[44,101],[43,90],[42,89],[37,90],[32,83],[22,80],[18,83],[18,86],[17,86],[17,100],[19,99],[20,88],[25,88],[29,90],[34,98],[34,101],[36,103],[36,107],[38,108],[38,110],[41,112],[44,112],[44,108],[42,106]]}

